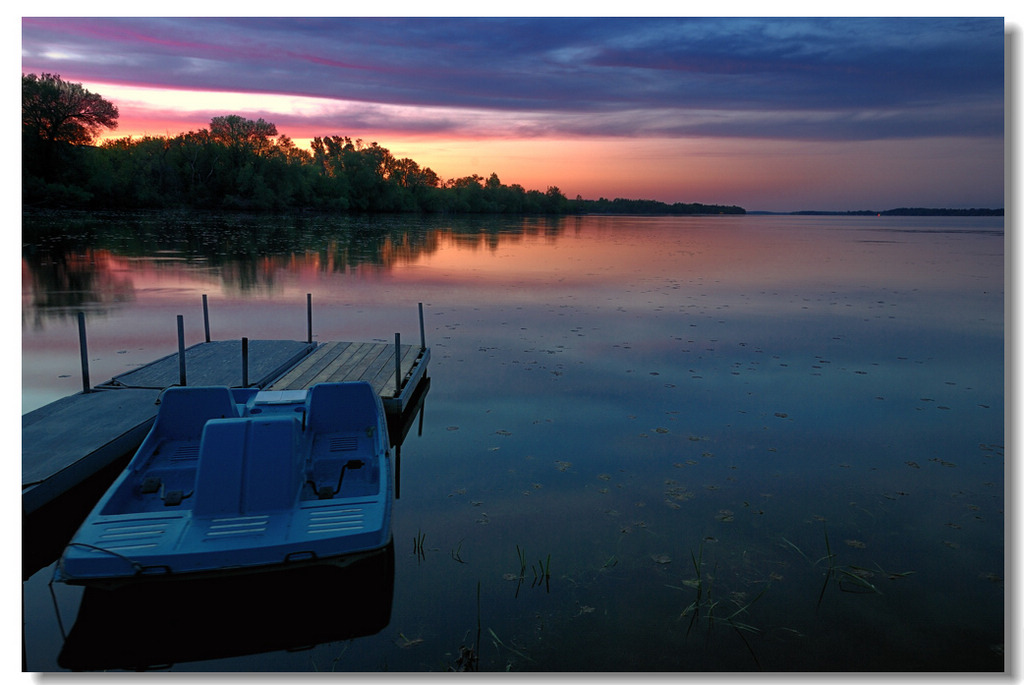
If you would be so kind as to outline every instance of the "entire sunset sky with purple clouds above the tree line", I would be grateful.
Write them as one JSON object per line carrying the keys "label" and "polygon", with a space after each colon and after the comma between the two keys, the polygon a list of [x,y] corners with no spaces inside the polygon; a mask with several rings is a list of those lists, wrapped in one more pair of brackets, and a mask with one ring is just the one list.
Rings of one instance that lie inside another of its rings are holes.
{"label": "entire sunset sky with purple clouds above the tree line", "polygon": [[22,19],[123,136],[263,118],[441,178],[748,210],[1004,207],[994,18]]}

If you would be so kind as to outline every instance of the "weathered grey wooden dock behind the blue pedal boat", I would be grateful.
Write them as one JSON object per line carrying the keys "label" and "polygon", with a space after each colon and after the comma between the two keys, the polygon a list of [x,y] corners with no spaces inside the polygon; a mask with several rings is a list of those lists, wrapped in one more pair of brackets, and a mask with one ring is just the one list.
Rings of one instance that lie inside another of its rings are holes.
{"label": "weathered grey wooden dock behind the blue pedal boat", "polygon": [[[401,417],[426,380],[425,346],[290,340],[215,341],[180,349],[22,418],[22,510],[31,514],[134,453],[172,385],[305,389],[366,380],[388,418]],[[244,353],[245,352],[245,353]],[[420,400],[422,401],[422,400]]]}

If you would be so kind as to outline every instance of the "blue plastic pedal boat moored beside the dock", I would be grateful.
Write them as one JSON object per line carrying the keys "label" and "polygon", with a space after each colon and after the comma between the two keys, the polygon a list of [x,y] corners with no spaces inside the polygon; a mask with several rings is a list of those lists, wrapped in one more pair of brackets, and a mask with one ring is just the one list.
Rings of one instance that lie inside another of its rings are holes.
{"label": "blue plastic pedal boat moored beside the dock", "polygon": [[391,542],[394,474],[365,382],[171,387],[54,580],[116,586],[338,563]]}

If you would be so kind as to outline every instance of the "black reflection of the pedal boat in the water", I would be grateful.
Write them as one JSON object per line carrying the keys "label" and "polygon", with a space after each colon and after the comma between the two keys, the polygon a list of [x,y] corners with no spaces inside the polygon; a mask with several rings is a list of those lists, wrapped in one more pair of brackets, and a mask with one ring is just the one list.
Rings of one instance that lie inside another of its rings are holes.
{"label": "black reflection of the pedal boat in the water", "polygon": [[57,662],[142,671],[375,635],[393,591],[393,542],[344,566],[86,588]]}

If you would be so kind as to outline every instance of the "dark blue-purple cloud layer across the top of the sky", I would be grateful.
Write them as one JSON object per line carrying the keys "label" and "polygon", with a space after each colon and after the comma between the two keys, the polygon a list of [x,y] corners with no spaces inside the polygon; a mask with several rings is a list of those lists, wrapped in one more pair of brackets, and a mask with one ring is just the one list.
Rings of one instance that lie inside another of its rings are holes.
{"label": "dark blue-purple cloud layer across the top of the sky", "polygon": [[1000,18],[27,18],[23,43],[29,72],[500,112],[537,134],[1002,134]]}

